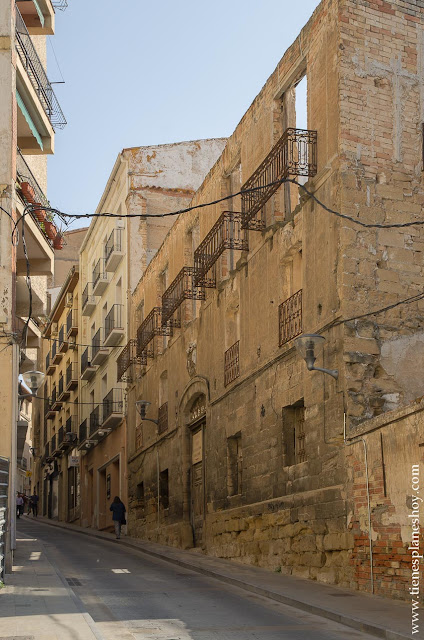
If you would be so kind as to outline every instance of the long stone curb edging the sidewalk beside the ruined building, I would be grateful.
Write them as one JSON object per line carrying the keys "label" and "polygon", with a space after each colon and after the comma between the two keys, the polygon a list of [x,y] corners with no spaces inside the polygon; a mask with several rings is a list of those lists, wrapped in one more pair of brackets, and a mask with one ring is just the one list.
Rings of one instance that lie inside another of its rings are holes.
{"label": "long stone curb edging the sidewalk beside the ruined building", "polygon": [[[79,529],[76,529],[76,528],[74,529],[72,525],[64,526],[59,522],[54,522],[54,521],[47,522],[45,519],[40,519],[40,520],[37,519],[36,522],[39,522],[41,524],[46,524],[52,527],[58,527],[59,529],[63,529],[64,531],[71,531],[73,533],[86,535],[90,538],[98,538],[99,540],[105,540],[106,542],[111,542],[112,544],[118,544],[113,537],[109,537],[107,534],[99,533],[95,530],[87,529],[87,531],[85,530],[80,531]],[[170,562],[171,564],[175,564],[177,566],[183,567],[184,569],[189,569],[190,571],[201,573],[202,575],[208,576],[210,578],[215,578],[220,582],[230,584],[232,586],[243,589],[244,591],[249,591],[250,593],[264,596],[266,598],[269,598],[270,600],[281,602],[282,604],[286,604],[290,607],[300,609],[301,611],[306,611],[307,613],[312,613],[314,615],[320,616],[321,618],[327,618],[328,620],[332,620],[333,622],[338,622],[339,624],[355,629],[356,631],[362,631],[363,633],[374,635],[377,638],[384,638],[385,640],[411,640],[412,638],[411,635],[404,635],[404,634],[398,633],[397,631],[391,631],[390,629],[385,629],[384,627],[380,627],[379,625],[364,622],[363,620],[359,618],[355,618],[353,616],[341,614],[336,611],[332,611],[331,609],[326,609],[324,607],[319,607],[317,605],[309,604],[308,602],[304,602],[302,600],[295,600],[294,598],[290,598],[290,596],[276,593],[275,591],[269,591],[268,589],[264,589],[262,587],[259,587],[255,584],[250,584],[248,582],[243,582],[242,580],[238,580],[237,578],[230,578],[229,576],[223,575],[218,571],[213,571],[211,569],[199,567],[198,565],[192,564],[189,561],[179,560],[178,558],[167,556],[164,553],[160,553],[159,551],[153,551],[152,549],[142,547],[141,544],[140,545],[134,544],[133,542],[127,541],[125,538],[120,539],[119,545],[129,547],[130,549],[139,551],[140,553],[144,553],[149,556],[153,556],[155,558],[158,558],[159,560],[165,560],[166,562]]]}

